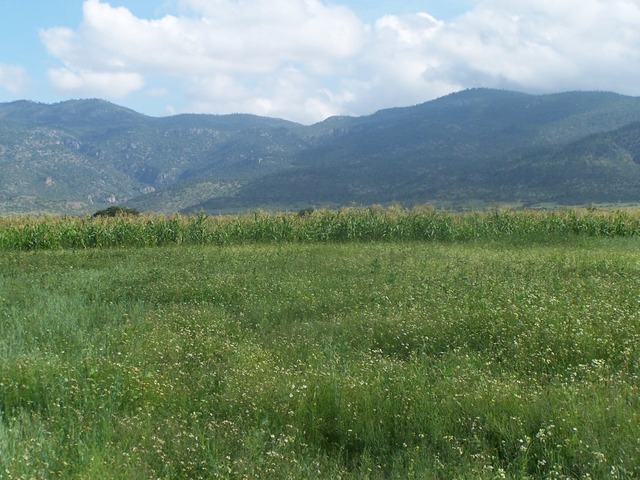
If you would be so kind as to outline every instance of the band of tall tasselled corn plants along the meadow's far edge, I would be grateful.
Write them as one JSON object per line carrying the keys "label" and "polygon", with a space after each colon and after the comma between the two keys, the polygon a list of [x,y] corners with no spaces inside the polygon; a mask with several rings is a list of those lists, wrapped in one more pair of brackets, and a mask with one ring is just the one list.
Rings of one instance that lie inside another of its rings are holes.
{"label": "band of tall tasselled corn plants along the meadow's far edge", "polygon": [[15,217],[0,220],[0,249],[83,249],[284,242],[469,241],[630,237],[640,211],[556,210],[452,213],[429,207],[345,208],[230,216]]}

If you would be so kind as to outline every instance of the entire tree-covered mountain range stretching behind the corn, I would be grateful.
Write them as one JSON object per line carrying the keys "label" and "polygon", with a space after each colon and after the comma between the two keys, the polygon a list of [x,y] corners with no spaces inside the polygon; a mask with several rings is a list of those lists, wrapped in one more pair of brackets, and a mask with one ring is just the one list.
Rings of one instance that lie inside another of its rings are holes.
{"label": "entire tree-covered mountain range stretching behind the corn", "polygon": [[0,213],[640,203],[640,98],[470,89],[305,126],[0,103]]}

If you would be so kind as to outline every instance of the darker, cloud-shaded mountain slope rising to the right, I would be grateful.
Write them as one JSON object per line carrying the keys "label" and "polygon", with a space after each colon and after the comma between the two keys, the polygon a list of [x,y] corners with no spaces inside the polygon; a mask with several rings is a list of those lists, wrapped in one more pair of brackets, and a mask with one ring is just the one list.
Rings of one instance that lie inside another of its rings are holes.
{"label": "darker, cloud-shaded mountain slope rising to the right", "polygon": [[[248,185],[233,201],[244,207],[637,202],[638,164],[618,155],[627,145],[613,132],[639,117],[640,99],[610,93],[469,90],[361,119],[330,119],[324,130],[310,127],[330,132],[331,140],[306,149],[293,170]],[[602,142],[610,145],[606,152]],[[610,168],[577,167],[593,155],[604,155]],[[203,207],[215,210],[228,200]]]}

